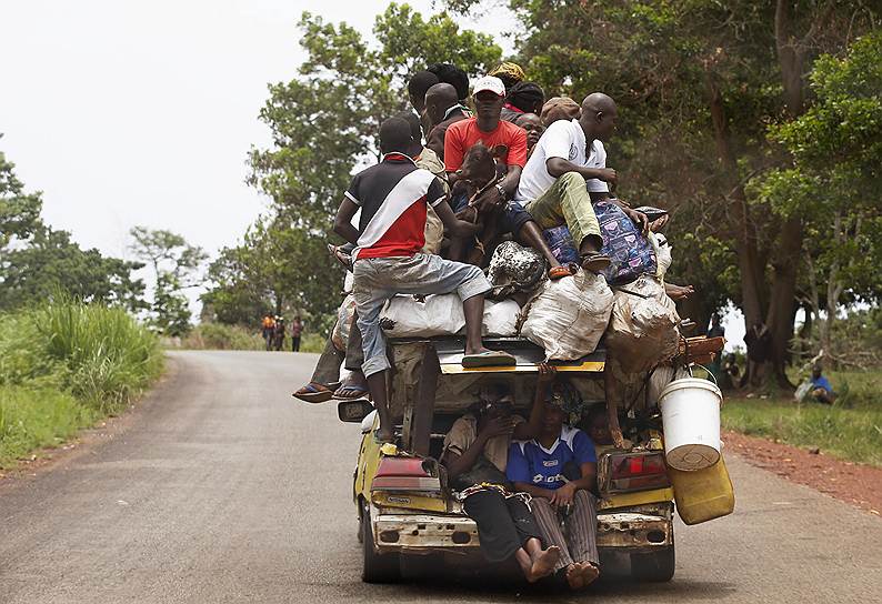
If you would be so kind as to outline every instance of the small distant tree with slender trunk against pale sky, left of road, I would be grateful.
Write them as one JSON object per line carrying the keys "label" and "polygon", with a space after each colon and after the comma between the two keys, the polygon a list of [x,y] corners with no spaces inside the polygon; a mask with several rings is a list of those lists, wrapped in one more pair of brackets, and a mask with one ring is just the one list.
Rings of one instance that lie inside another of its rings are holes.
{"label": "small distant tree with slender trunk against pale sky, left of road", "polygon": [[183,291],[201,283],[199,271],[208,254],[171,231],[134,226],[130,234],[132,253],[153,269],[153,325],[166,335],[184,335],[191,313]]}

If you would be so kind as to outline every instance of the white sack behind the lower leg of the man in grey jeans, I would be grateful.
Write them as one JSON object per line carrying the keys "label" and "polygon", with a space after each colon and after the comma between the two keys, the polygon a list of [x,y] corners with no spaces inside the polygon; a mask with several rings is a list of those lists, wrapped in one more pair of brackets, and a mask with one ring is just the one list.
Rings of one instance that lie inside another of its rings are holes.
{"label": "white sack behind the lower leg of the man in grey jeans", "polygon": [[[487,301],[482,333],[512,336],[517,333],[521,308],[513,300]],[[433,338],[453,335],[465,328],[462,301],[455,293],[425,296],[397,295],[380,313],[380,326],[389,338]]]}

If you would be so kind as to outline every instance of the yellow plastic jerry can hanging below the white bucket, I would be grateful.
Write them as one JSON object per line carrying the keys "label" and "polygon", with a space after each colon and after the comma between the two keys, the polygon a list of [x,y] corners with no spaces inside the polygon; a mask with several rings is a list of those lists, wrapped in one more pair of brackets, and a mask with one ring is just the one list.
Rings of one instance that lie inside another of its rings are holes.
{"label": "yellow plastic jerry can hanging below the white bucket", "polygon": [[668,466],[676,513],[686,524],[726,516],[735,509],[735,491],[723,456],[704,470],[686,472]]}

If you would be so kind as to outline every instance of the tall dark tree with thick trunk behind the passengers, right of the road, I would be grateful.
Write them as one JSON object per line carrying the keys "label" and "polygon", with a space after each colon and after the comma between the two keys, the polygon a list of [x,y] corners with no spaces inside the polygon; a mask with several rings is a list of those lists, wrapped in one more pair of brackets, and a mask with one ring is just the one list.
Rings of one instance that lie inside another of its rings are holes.
{"label": "tall dark tree with thick trunk behind the passengers, right of the road", "polygon": [[[470,0],[448,2],[462,9]],[[620,103],[611,157],[624,191],[673,210],[671,240],[725,242],[738,262],[730,292],[748,325],[773,336],[772,374],[784,374],[798,306],[804,226],[786,203],[751,197],[750,181],[791,162],[766,138],[811,101],[805,73],[821,52],[841,53],[878,27],[861,0],[534,2],[512,0],[527,28],[519,60],[549,91],[603,90]],[[672,272],[701,265],[702,245],[680,246]],[[684,264],[685,263],[685,264]],[[711,273],[705,266],[704,273]],[[726,278],[728,279],[728,278]],[[715,291],[730,284],[713,279]],[[714,295],[713,298],[716,298]]]}

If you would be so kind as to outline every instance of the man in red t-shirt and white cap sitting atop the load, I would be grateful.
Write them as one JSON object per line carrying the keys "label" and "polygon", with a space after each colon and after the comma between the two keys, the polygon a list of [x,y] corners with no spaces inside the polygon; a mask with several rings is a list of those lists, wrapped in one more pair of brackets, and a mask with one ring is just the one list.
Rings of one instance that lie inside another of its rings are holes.
{"label": "man in red t-shirt and white cap sitting atop the load", "polygon": [[[474,84],[472,98],[475,117],[452,123],[444,135],[444,167],[450,174],[451,187],[457,180],[457,171],[462,168],[465,152],[475,143],[483,143],[490,149],[497,163],[505,167],[505,174],[474,203],[479,209],[502,208],[501,232],[512,233],[521,244],[541,253],[551,265],[550,279],[571,275],[570,269],[562,266],[554,258],[530,213],[520,203],[512,201],[521,180],[521,171],[527,163],[527,132],[501,119],[505,102],[502,80],[492,76],[481,78]],[[454,198],[453,211],[462,210],[467,203],[464,197]]]}

